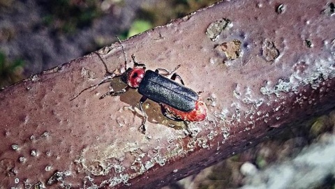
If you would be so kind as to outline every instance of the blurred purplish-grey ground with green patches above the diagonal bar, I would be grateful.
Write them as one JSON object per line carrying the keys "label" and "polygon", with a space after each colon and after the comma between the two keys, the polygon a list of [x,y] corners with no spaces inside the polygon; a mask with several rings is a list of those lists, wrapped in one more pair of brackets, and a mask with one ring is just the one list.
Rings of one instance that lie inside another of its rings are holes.
{"label": "blurred purplish-grey ground with green patches above the diagonal bar", "polygon": [[214,2],[0,0],[0,88]]}

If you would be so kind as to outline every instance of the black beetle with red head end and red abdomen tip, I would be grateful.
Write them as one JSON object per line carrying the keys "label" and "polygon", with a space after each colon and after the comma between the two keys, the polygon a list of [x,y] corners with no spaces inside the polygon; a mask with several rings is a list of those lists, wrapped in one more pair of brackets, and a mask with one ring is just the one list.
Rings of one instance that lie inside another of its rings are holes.
{"label": "black beetle with red head end and red abdomen tip", "polygon": [[[105,82],[110,82],[110,80],[115,77],[121,77],[121,81],[126,83],[127,86],[119,91],[111,89],[110,91],[107,91],[107,93],[103,94],[103,96],[99,99],[103,99],[106,96],[119,96],[122,93],[126,93],[129,89],[137,89],[138,93],[142,95],[142,98],[140,98],[140,111],[144,115],[144,121],[142,121],[140,126],[142,133],[145,133],[146,128],[144,124],[148,119],[142,105],[148,98],[158,103],[161,107],[162,114],[173,121],[198,122],[206,119],[207,107],[199,100],[198,93],[186,87],[180,75],[174,73],[180,65],[172,71],[168,71],[164,68],[157,68],[155,71],[146,70],[146,66],[143,63],[137,63],[135,56],[132,55],[131,57],[133,59],[134,66],[133,68],[127,68],[126,52],[124,51],[124,46],[120,40],[119,42],[125,56],[124,70],[126,71],[121,73],[121,71],[116,70],[114,73],[109,73],[106,68],[108,75],[106,75],[101,82],[94,86],[90,86],[89,88],[96,88]],[[99,58],[101,59],[100,56]],[[103,59],[101,59],[101,61],[103,61]],[[172,73],[173,75],[169,79],[168,77],[160,74],[160,71],[164,72],[165,75],[172,75]],[[177,77],[179,78],[181,84],[175,82]],[[77,96],[79,96],[80,93]],[[77,96],[75,96],[75,98]]]}

